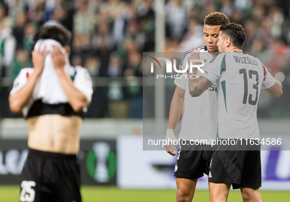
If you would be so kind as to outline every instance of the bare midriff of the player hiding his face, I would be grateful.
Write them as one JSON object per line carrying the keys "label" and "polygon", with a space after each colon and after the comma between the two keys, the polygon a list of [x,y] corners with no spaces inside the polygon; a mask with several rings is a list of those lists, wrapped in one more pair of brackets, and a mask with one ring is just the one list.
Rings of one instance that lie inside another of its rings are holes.
{"label": "bare midriff of the player hiding his face", "polygon": [[39,115],[27,118],[28,147],[31,149],[76,154],[82,118],[76,115]]}

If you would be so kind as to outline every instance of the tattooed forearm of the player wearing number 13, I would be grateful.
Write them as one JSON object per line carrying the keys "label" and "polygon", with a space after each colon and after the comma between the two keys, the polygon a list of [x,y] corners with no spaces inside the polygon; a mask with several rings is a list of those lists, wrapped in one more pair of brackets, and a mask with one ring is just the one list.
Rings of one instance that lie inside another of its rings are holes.
{"label": "tattooed forearm of the player wearing number 13", "polygon": [[191,97],[197,97],[200,96],[206,89],[208,89],[212,85],[212,82],[203,76],[195,79],[195,76],[191,76],[193,74],[194,71],[192,71],[192,74],[190,74],[188,78],[189,94]]}

